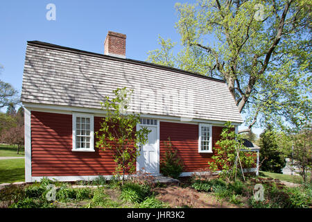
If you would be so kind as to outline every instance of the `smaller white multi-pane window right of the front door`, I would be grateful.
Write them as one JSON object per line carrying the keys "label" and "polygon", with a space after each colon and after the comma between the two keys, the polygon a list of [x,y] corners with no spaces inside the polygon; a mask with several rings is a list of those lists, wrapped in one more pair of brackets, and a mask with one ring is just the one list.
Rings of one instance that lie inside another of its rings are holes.
{"label": "smaller white multi-pane window right of the front door", "polygon": [[211,144],[211,125],[202,124],[199,125],[199,139],[198,139],[198,152],[200,153],[212,153]]}

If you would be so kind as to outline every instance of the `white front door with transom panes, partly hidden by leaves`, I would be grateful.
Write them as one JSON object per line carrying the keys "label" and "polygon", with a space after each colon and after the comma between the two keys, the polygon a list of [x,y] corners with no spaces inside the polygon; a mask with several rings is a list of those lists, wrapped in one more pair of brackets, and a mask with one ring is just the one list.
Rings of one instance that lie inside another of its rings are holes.
{"label": "white front door with transom panes, partly hidden by leaves", "polygon": [[146,173],[158,173],[158,142],[157,142],[157,126],[138,126],[146,127],[150,130],[148,134],[148,142],[145,145],[140,145],[140,155],[137,157],[137,171]]}

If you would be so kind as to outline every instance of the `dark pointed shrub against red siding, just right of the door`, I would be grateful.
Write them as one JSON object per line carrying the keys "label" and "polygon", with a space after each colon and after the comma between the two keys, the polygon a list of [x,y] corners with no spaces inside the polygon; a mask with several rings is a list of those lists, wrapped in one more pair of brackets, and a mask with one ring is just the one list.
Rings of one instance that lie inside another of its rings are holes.
{"label": "dark pointed shrub against red siding, just right of the door", "polygon": [[177,155],[177,150],[173,148],[170,138],[166,145],[164,160],[160,162],[160,171],[164,176],[177,179],[183,171],[183,162]]}

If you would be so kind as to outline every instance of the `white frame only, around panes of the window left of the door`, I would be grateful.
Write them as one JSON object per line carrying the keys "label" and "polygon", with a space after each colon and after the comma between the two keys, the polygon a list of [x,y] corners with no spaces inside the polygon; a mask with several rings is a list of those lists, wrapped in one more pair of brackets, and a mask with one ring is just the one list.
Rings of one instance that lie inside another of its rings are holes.
{"label": "white frame only, around panes of the window left of the door", "polygon": [[[94,151],[94,115],[85,113],[73,113],[73,147],[71,151],[75,152],[95,152]],[[76,148],[76,118],[85,117],[90,118],[90,148]]]}

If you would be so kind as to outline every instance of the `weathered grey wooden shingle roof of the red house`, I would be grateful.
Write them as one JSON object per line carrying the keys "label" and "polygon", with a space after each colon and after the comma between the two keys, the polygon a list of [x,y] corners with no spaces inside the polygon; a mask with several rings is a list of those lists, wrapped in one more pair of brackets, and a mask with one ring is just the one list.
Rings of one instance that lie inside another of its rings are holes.
{"label": "weathered grey wooden shingle roof of the red house", "polygon": [[44,42],[27,44],[24,103],[101,108],[103,97],[121,87],[134,89],[130,111],[243,122],[223,80]]}

